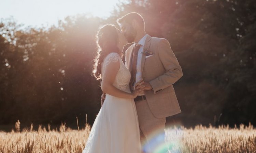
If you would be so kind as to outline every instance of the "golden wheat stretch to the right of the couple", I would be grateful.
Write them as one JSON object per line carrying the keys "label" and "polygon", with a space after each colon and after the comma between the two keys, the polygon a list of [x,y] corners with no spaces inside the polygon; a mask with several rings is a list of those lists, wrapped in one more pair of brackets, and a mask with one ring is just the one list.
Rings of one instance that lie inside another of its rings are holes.
{"label": "golden wheat stretch to the right of the couple", "polygon": [[251,124],[166,129],[166,140],[172,153],[256,153],[256,129]]}

